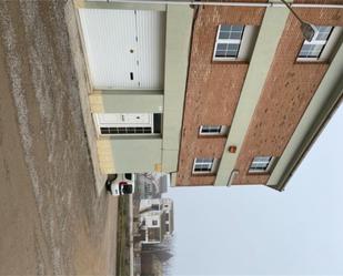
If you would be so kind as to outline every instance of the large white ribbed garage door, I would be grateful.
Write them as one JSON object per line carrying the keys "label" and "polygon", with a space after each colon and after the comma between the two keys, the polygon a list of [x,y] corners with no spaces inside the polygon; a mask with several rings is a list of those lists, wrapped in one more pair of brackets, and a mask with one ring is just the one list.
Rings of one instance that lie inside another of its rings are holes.
{"label": "large white ribbed garage door", "polygon": [[79,9],[95,89],[163,89],[165,13]]}

